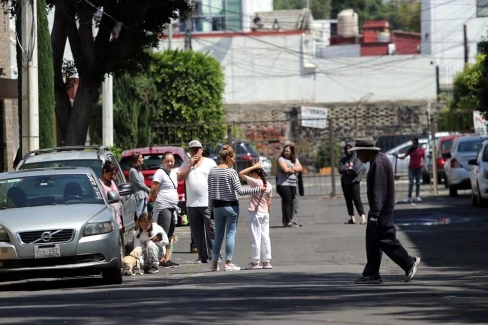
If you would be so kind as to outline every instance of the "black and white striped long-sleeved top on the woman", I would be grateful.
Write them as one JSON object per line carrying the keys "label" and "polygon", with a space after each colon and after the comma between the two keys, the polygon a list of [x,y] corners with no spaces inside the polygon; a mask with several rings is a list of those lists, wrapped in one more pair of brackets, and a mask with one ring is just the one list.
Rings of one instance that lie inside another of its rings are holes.
{"label": "black and white striped long-sleeved top on the woman", "polygon": [[243,188],[237,172],[232,168],[214,167],[208,173],[208,207],[214,207],[214,200],[237,201],[238,195],[250,195],[261,190],[259,186]]}

